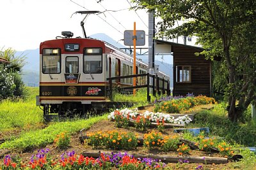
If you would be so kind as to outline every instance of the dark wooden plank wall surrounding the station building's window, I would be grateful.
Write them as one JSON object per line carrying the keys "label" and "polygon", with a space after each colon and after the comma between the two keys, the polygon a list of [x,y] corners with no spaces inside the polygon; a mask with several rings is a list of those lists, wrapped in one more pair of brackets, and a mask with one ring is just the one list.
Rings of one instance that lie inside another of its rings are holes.
{"label": "dark wooden plank wall surrounding the station building's window", "polygon": [[[200,49],[186,46],[172,46],[173,52],[173,95],[211,95],[211,61],[196,56]],[[191,66],[191,83],[176,83],[176,66]]]}

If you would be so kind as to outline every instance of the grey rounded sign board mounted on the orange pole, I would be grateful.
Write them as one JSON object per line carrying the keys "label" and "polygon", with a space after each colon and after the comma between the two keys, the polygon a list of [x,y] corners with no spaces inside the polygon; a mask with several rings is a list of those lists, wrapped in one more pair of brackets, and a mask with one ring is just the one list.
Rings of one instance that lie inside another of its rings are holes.
{"label": "grey rounded sign board mounted on the orange pole", "polygon": [[[133,45],[133,30],[124,31],[124,45],[132,46]],[[145,31],[136,30],[136,46],[145,45]]]}

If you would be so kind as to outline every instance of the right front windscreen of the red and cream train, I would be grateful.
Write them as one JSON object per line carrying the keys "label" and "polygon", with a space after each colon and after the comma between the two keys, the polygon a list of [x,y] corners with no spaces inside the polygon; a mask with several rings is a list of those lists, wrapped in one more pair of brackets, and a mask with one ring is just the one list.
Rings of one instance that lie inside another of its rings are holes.
{"label": "right front windscreen of the red and cream train", "polygon": [[84,73],[102,73],[102,49],[84,49]]}

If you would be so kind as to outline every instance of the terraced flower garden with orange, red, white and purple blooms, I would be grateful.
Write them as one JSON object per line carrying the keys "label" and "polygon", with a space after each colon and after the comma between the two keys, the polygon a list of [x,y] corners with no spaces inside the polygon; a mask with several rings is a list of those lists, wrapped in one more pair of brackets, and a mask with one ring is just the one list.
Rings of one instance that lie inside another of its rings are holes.
{"label": "terraced flower garden with orange, red, white and purple blooms", "polygon": [[[180,113],[213,103],[212,98],[198,96],[161,101],[155,104],[155,113],[128,108],[115,110],[102,124],[84,130],[83,138],[79,137],[81,144],[76,143],[84,152],[70,150],[52,157],[51,150],[68,150],[74,142],[72,134],[63,131],[56,135],[50,149],[34,152],[29,160],[5,155],[0,160],[0,169],[168,169],[170,162],[175,162],[177,169],[193,162],[197,162],[193,169],[204,169],[206,164],[226,164],[236,151],[223,139],[208,137],[204,132],[199,136],[174,133],[173,128],[166,127],[168,124],[186,127],[193,122],[188,115],[175,118],[169,110]],[[154,157],[150,158],[152,153]]]}

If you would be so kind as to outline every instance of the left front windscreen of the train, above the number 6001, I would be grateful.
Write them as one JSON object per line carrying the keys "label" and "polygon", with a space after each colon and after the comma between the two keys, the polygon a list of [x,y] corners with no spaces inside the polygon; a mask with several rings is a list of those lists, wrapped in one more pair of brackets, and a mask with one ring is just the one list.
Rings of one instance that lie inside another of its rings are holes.
{"label": "left front windscreen of the train, above the number 6001", "polygon": [[45,48],[43,49],[43,70],[44,74],[59,74],[61,72],[61,60],[60,60],[59,48]]}

